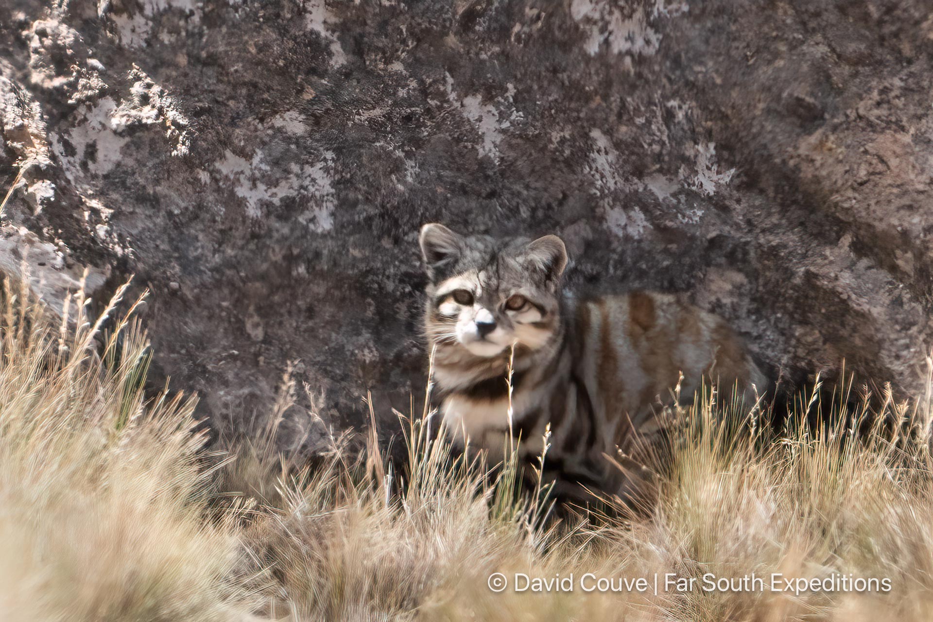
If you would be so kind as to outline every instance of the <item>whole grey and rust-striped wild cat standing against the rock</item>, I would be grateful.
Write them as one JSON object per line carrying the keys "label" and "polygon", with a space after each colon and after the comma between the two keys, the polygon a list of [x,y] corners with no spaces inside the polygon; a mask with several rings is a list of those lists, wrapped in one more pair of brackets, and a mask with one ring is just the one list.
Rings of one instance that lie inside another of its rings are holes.
{"label": "whole grey and rust-striped wild cat standing against the rock", "polygon": [[614,463],[618,449],[659,430],[655,413],[670,403],[681,373],[683,396],[704,376],[739,387],[747,400],[765,385],[729,325],[682,297],[565,295],[567,255],[556,236],[495,240],[430,224],[420,241],[425,332],[448,433],[501,455],[511,356],[511,432],[532,458],[550,423],[548,477],[564,496],[633,496],[637,476]]}

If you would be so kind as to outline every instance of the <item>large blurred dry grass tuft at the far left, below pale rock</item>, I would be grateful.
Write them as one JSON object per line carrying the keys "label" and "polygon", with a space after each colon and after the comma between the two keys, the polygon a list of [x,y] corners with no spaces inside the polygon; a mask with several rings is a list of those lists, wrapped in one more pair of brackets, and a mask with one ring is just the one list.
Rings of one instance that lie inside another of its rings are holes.
{"label": "large blurred dry grass tuft at the far left, below pale rock", "polygon": [[[107,310],[113,311],[123,291]],[[0,317],[0,619],[230,620],[230,521],[206,519],[193,402],[146,400],[146,339],[119,319],[97,354],[8,284]]]}

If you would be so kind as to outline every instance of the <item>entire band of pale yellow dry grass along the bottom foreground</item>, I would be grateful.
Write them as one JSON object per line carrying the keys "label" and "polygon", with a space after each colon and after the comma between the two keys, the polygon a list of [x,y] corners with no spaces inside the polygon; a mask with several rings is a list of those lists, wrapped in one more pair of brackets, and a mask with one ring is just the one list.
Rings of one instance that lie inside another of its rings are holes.
{"label": "entire band of pale yellow dry grass along the bottom foreground", "polygon": [[[83,318],[62,337],[5,299],[0,619],[931,617],[929,395],[837,407],[833,423],[778,435],[701,397],[673,413],[682,429],[650,517],[574,516],[552,511],[544,491],[516,493],[513,463],[484,476],[453,458],[428,434],[428,408],[402,417],[399,460],[369,434],[360,452],[339,438],[313,468],[299,463],[276,449],[295,391],[287,377],[267,425],[226,437],[229,458],[207,455],[191,403],[144,398],[138,326],[118,323],[123,337],[103,339],[101,360]],[[856,435],[853,420],[868,429]],[[497,572],[501,593],[487,587]],[[574,574],[574,590],[516,592],[516,573]],[[586,593],[586,573],[651,584],[659,574],[661,590]],[[854,574],[891,589],[677,592],[663,589],[667,573]]]}

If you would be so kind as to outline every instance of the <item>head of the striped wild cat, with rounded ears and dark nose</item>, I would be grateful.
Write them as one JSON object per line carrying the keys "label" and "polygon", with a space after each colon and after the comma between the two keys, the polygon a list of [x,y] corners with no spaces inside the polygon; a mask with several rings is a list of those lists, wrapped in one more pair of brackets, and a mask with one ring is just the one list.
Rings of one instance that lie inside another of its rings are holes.
{"label": "head of the striped wild cat, with rounded ears and dark nose", "polygon": [[430,283],[425,327],[439,349],[494,357],[512,344],[536,351],[560,326],[564,242],[462,236],[443,225],[421,228]]}

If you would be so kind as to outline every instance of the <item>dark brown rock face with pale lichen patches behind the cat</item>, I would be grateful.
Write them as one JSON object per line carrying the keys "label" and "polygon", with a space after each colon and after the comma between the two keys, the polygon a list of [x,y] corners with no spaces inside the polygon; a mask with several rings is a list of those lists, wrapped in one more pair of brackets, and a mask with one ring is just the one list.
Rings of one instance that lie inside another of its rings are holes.
{"label": "dark brown rock face with pale lichen patches behind the cat", "polygon": [[7,0],[0,40],[0,270],[52,304],[135,274],[205,415],[289,361],[335,427],[407,411],[428,221],[556,232],[573,286],[687,291],[774,368],[921,384],[926,0]]}

